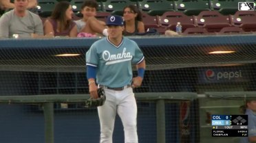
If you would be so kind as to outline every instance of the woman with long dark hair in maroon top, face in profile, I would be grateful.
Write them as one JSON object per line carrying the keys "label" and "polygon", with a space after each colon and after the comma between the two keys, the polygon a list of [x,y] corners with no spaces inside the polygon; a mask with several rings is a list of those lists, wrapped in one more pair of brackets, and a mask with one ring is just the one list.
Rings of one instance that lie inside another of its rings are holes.
{"label": "woman with long dark hair in maroon top, face in profile", "polygon": [[72,21],[72,6],[67,1],[58,2],[43,27],[45,35],[76,37],[76,23]]}

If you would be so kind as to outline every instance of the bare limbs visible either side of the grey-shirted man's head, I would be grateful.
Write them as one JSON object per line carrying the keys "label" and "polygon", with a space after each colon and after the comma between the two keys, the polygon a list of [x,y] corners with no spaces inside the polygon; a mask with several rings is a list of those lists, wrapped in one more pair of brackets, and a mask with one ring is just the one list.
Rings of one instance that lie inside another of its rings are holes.
{"label": "bare limbs visible either side of the grey-shirted man's head", "polygon": [[[0,9],[6,12],[14,9],[15,6],[13,2],[14,1],[11,1],[11,0],[0,0],[0,5],[1,5]],[[28,0],[28,7],[27,7],[28,10],[36,13],[37,12],[36,6],[37,6],[36,0]]]}

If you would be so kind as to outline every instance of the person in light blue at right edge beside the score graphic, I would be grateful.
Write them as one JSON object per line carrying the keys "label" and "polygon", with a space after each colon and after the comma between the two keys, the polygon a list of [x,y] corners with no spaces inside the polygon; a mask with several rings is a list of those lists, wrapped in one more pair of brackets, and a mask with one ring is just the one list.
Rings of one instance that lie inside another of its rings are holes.
{"label": "person in light blue at right edge beside the score graphic", "polygon": [[246,100],[248,115],[248,137],[242,137],[240,143],[256,142],[256,99]]}

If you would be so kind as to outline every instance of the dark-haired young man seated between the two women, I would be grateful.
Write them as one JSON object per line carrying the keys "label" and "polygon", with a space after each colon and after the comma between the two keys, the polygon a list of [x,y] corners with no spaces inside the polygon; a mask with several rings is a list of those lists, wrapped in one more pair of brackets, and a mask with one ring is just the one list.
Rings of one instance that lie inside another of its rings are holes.
{"label": "dark-haired young man seated between the two women", "polygon": [[96,36],[96,34],[103,34],[107,36],[107,29],[105,27],[105,22],[98,21],[96,16],[96,10],[98,8],[98,3],[93,0],[85,1],[81,7],[81,13],[83,18],[76,21],[78,27],[78,36]]}

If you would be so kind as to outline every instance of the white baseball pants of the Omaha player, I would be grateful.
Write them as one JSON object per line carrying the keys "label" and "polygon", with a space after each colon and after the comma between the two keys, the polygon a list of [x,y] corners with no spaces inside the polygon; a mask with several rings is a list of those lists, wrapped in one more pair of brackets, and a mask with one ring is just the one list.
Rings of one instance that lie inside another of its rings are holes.
{"label": "white baseball pants of the Omaha player", "polygon": [[105,89],[106,101],[98,107],[100,143],[112,143],[116,113],[122,120],[125,143],[138,143],[137,104],[132,88],[121,91]]}

